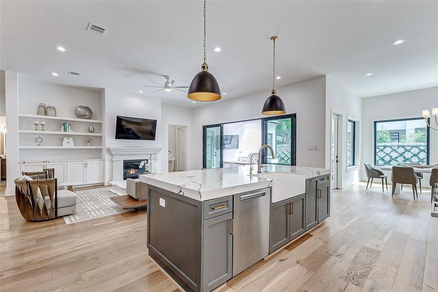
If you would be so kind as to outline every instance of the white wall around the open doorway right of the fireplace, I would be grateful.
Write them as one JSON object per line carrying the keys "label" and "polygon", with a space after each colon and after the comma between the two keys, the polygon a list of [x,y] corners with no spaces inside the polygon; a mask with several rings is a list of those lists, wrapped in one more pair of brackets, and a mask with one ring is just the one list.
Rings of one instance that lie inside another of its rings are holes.
{"label": "white wall around the open doorway right of the fireplace", "polygon": [[[195,152],[195,145],[201,144],[201,156],[202,156],[202,135],[201,139],[194,138],[195,129],[193,127],[193,109],[178,107],[174,105],[161,104],[161,146],[163,148],[161,155],[161,171],[168,172],[168,154],[169,149],[169,125],[187,126],[187,169],[200,169],[193,162],[193,157],[197,156]],[[202,128],[202,127],[201,127]],[[176,152],[172,151],[172,155]]]}

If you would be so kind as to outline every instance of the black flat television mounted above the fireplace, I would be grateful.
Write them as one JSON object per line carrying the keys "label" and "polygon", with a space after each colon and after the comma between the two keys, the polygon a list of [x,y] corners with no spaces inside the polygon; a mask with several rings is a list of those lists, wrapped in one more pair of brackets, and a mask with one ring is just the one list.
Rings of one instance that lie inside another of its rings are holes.
{"label": "black flat television mounted above the fireplace", "polygon": [[157,120],[117,116],[116,139],[155,140]]}

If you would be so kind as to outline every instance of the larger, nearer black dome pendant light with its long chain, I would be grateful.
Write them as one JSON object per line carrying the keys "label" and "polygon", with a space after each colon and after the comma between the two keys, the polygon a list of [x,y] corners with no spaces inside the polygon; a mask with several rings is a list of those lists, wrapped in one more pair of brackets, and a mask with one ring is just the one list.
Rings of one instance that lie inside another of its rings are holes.
{"label": "larger, nearer black dome pendant light with its long chain", "polygon": [[221,99],[221,90],[216,78],[209,73],[209,65],[206,61],[205,36],[206,36],[206,0],[204,0],[204,63],[201,65],[201,72],[197,73],[189,87],[187,97],[197,101],[216,101]]}

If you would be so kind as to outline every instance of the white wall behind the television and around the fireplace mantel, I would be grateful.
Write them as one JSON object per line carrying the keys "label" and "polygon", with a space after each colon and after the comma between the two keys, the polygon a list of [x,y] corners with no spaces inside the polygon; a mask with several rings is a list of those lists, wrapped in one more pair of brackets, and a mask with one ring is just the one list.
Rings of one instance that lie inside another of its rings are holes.
{"label": "white wall behind the television and around the fireplace mantel", "polygon": [[[103,103],[105,104],[105,183],[107,183],[112,179],[111,154],[106,149],[107,147],[161,147],[163,136],[161,134],[162,119],[160,99],[135,93],[105,89],[105,102]],[[157,120],[157,135],[155,141],[115,139],[117,115]],[[167,128],[167,126],[165,127]],[[167,137],[167,135],[164,137]],[[161,164],[159,162],[161,156],[163,156],[162,152],[161,150],[160,155],[158,155],[158,172],[161,171]],[[167,158],[167,154],[164,156]]]}

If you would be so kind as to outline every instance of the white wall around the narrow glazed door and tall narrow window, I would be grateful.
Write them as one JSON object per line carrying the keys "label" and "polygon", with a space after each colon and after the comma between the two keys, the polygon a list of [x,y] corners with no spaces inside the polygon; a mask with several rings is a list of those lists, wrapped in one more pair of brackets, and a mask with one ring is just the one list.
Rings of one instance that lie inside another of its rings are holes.
{"label": "white wall around the narrow glazed door and tall narrow window", "polygon": [[[326,76],[326,156],[325,166],[331,167],[331,122],[332,113],[339,115],[339,149],[340,162],[338,167],[339,188],[345,188],[354,182],[359,181],[359,166],[347,167],[347,120],[356,121],[356,147],[355,147],[355,164],[360,163],[360,145],[361,145],[361,116],[362,116],[362,99],[348,90],[339,80],[331,75]],[[334,187],[334,186],[332,186]]]}

